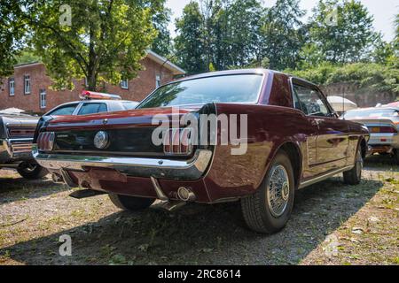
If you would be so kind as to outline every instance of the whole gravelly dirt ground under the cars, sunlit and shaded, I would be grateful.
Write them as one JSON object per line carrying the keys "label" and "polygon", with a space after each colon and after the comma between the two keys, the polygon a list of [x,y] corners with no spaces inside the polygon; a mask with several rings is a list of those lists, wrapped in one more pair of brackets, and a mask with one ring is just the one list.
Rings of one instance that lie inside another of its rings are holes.
{"label": "whole gravelly dirt ground under the cars, sunlit and shaded", "polygon": [[[0,264],[399,264],[399,166],[372,157],[364,181],[297,193],[286,229],[246,229],[239,203],[122,212],[51,180],[0,171]],[[70,235],[72,256],[59,256]]]}

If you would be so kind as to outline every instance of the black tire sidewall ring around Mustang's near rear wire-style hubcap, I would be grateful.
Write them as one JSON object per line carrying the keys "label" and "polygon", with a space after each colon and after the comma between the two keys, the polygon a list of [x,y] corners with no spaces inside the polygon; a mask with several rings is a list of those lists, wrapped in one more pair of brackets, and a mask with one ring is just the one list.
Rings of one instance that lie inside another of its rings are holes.
{"label": "black tire sidewall ring around Mustang's near rear wire-style hubcap", "polygon": [[[277,165],[281,164],[286,168],[286,172],[288,174],[288,179],[290,181],[290,195],[289,195],[289,200],[288,204],[286,207],[286,211],[282,216],[279,218],[276,218],[272,215],[270,212],[269,208],[269,202],[268,202],[268,194],[267,194],[267,189],[268,189],[268,184],[270,182],[270,172],[271,169]],[[269,172],[266,175],[265,180],[262,183],[262,196],[263,196],[263,213],[262,213],[262,218],[263,218],[263,223],[268,223],[270,224],[270,230],[271,232],[278,232],[279,230],[283,229],[286,226],[286,223],[288,222],[289,218],[291,217],[291,213],[293,211],[293,203],[294,203],[294,198],[295,198],[295,180],[293,176],[293,165],[291,164],[291,161],[289,157],[286,155],[286,153],[280,152],[278,155],[274,158],[273,163],[270,164],[270,169]]]}

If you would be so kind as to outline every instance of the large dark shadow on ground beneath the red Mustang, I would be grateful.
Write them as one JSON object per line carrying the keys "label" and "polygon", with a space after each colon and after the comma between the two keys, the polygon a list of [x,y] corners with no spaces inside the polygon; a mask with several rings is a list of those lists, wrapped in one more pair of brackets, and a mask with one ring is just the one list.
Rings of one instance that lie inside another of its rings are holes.
{"label": "large dark shadow on ground beneath the red Mustang", "polygon": [[[175,213],[118,212],[0,255],[22,264],[299,264],[381,187],[374,180],[348,187],[336,178],[302,190],[286,229],[270,236],[246,228],[239,203],[191,205]],[[73,256],[59,256],[62,234],[72,237]]]}

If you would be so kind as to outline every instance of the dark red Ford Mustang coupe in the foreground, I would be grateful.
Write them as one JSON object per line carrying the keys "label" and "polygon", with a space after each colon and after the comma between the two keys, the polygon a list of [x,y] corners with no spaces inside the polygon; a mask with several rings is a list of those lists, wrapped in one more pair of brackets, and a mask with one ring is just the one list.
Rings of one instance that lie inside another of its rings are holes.
{"label": "dark red Ford Mustang coupe in the foreground", "polygon": [[123,210],[240,201],[250,228],[276,233],[297,189],[342,172],[360,182],[368,140],[309,81],[241,70],[173,81],[132,111],[43,119],[34,156]]}

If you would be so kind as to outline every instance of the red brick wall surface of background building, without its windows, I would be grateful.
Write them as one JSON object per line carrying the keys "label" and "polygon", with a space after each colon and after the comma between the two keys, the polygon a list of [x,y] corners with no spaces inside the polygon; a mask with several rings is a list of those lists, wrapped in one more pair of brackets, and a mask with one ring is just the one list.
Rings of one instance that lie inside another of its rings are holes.
{"label": "red brick wall surface of background building, without its windows", "polygon": [[[161,82],[173,80],[173,73],[162,65],[145,57],[142,61],[145,70],[138,73],[137,78],[129,81],[129,89],[121,86],[106,85],[106,92],[120,95],[124,100],[141,101],[156,87],[156,76],[160,76]],[[30,76],[31,93],[24,94],[24,77]],[[50,89],[51,79],[46,75],[43,64],[16,66],[12,77],[15,81],[15,95],[9,95],[8,78],[3,79],[0,85],[0,110],[16,107],[25,111],[44,113],[62,103],[79,100],[79,94],[84,89],[84,80],[74,81],[74,90],[54,91]],[[40,107],[40,92],[46,91],[46,108]]]}

